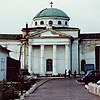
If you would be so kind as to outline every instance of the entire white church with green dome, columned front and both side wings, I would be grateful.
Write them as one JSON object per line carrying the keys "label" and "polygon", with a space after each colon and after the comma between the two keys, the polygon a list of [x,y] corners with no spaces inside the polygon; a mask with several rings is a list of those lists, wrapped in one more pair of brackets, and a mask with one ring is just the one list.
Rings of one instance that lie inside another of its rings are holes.
{"label": "entire white church with green dome, columned front and both side wings", "polygon": [[65,70],[81,74],[84,64],[100,70],[100,33],[81,33],[79,28],[70,27],[69,21],[62,10],[46,8],[33,18],[31,27],[26,24],[22,28],[22,34],[7,34],[9,39],[0,34],[0,43],[11,47],[10,56],[16,56],[21,68],[32,75],[63,75]]}

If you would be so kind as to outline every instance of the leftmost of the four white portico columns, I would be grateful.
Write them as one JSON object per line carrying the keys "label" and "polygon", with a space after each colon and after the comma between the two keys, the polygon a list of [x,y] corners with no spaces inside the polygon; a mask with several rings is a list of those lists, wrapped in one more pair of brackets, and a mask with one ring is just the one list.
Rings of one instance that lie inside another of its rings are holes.
{"label": "leftmost of the four white portico columns", "polygon": [[32,46],[29,45],[28,49],[28,72],[32,74]]}

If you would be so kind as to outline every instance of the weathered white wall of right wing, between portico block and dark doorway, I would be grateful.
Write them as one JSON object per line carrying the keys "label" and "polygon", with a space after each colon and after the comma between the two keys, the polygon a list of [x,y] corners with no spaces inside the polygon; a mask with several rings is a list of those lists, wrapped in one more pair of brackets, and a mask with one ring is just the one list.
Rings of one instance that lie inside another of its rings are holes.
{"label": "weathered white wall of right wing, between portico block and dark doorway", "polygon": [[[93,44],[94,43],[94,44]],[[80,45],[80,65],[81,60],[85,60],[86,64],[94,64],[95,66],[95,41],[83,41]]]}

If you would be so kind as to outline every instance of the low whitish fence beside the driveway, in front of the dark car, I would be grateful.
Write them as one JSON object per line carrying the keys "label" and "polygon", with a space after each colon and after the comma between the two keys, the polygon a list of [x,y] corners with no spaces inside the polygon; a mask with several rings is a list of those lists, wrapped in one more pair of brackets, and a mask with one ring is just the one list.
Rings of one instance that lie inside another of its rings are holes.
{"label": "low whitish fence beside the driveway, in front of the dark car", "polygon": [[96,83],[89,83],[88,86],[85,86],[90,93],[100,96],[100,85]]}

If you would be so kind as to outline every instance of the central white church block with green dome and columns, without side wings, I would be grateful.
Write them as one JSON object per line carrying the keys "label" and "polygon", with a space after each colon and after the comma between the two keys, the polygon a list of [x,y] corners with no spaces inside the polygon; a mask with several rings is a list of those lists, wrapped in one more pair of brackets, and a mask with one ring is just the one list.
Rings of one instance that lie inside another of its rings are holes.
{"label": "central white church block with green dome and columns, without side wings", "polygon": [[22,29],[27,39],[23,65],[31,74],[58,75],[65,70],[80,73],[80,29],[69,27],[69,21],[65,12],[51,7],[37,13],[32,27],[26,24]]}

